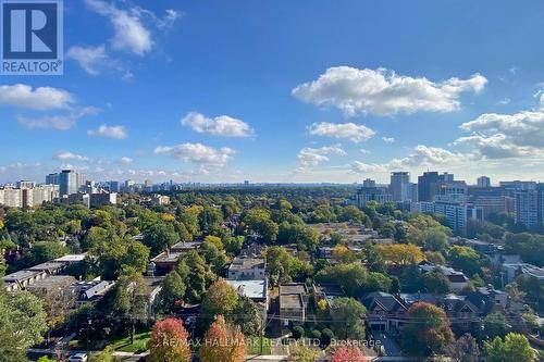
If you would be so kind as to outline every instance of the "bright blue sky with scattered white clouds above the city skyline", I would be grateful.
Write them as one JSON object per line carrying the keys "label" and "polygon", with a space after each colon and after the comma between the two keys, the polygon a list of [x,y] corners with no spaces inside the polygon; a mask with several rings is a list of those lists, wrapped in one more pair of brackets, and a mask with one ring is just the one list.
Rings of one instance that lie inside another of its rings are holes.
{"label": "bright blue sky with scattered white clouds above the city skyline", "polygon": [[0,182],[540,178],[541,1],[64,8],[64,75],[0,79]]}

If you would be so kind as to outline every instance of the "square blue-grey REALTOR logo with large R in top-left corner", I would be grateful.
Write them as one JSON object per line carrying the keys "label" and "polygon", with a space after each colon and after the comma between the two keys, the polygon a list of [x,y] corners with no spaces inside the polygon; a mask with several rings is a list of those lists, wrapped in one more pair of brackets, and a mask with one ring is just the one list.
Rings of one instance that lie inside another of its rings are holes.
{"label": "square blue-grey REALTOR logo with large R in top-left corner", "polygon": [[2,75],[62,75],[62,0],[0,0]]}

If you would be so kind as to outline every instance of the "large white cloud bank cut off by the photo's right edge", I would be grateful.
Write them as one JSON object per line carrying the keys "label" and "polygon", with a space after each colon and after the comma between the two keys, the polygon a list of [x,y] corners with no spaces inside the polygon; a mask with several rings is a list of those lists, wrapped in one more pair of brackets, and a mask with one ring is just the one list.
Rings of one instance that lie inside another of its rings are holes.
{"label": "large white cloud bank cut off by the photo's right edge", "polygon": [[515,114],[485,113],[461,124],[470,132],[455,143],[469,145],[486,159],[537,155],[544,152],[544,112],[524,111]]}

